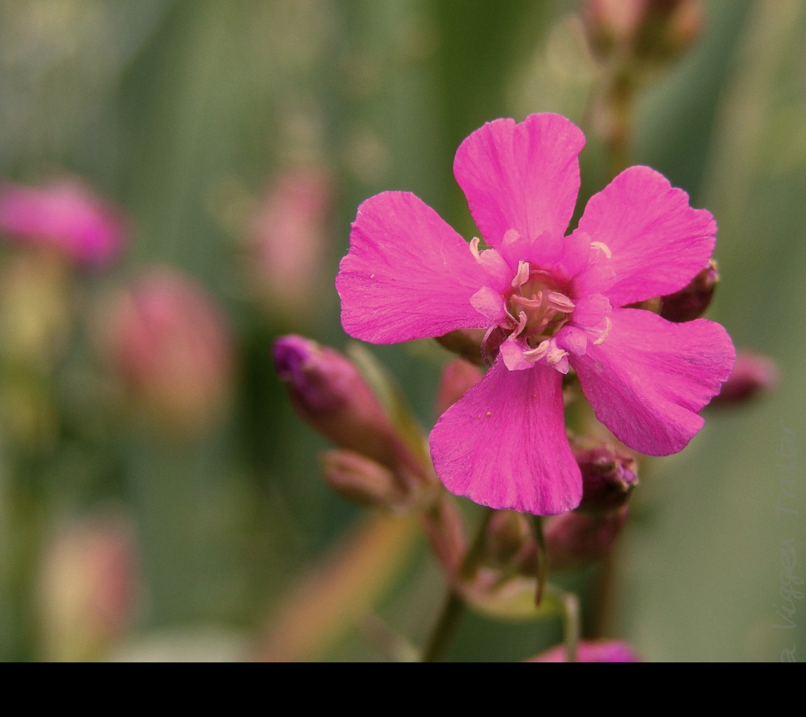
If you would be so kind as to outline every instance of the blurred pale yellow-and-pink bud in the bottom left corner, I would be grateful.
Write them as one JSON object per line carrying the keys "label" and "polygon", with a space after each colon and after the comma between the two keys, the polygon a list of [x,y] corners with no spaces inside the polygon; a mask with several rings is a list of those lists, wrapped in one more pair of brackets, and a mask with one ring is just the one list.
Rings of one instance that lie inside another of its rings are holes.
{"label": "blurred pale yellow-and-pink bud in the bottom left corner", "polygon": [[54,536],[39,583],[46,659],[103,657],[131,622],[135,562],[131,525],[119,516],[88,519]]}

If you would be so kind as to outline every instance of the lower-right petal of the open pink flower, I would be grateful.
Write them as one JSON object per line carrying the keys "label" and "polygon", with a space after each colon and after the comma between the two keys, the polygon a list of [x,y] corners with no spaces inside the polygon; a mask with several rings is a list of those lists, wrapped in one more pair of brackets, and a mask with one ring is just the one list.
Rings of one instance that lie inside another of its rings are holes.
{"label": "lower-right petal of the open pink flower", "polygon": [[613,309],[610,320],[604,343],[571,357],[596,418],[636,451],[682,450],[733,369],[730,337],[707,319],[671,323],[641,309]]}

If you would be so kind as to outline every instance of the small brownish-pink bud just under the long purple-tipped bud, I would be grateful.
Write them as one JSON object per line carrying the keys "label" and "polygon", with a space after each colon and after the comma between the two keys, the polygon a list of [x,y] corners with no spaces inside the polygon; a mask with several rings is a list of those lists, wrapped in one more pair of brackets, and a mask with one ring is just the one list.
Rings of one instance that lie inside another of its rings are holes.
{"label": "small brownish-pink bud just under the long purple-tipped bud", "polygon": [[405,494],[394,473],[372,459],[352,451],[322,454],[325,482],[348,500],[371,506],[394,507],[405,501]]}

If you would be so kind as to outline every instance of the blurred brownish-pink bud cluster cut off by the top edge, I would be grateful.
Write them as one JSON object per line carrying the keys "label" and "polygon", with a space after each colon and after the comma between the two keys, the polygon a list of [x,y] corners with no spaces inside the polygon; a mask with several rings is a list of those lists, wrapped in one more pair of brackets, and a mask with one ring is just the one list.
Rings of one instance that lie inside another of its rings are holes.
{"label": "blurred brownish-pink bud cluster cut off by the top edge", "polygon": [[656,65],[691,47],[703,25],[699,0],[586,0],[582,19],[599,60]]}

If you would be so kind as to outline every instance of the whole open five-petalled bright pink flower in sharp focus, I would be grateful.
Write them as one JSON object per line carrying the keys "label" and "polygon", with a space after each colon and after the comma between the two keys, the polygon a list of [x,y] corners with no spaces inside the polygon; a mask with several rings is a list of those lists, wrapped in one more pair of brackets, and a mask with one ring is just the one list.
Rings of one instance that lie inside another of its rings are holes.
{"label": "whole open five-petalled bright pink flower in sharp focus", "polygon": [[359,206],[336,287],[342,323],[386,344],[484,328],[492,367],[431,431],[448,490],[494,508],[554,515],[577,506],[563,374],[629,448],[681,450],[733,366],[706,319],[670,323],[626,308],[686,286],[706,264],[713,217],[648,167],[594,195],[563,236],[584,135],[559,115],[497,119],[459,146],[454,173],[489,247],[468,244],[413,194]]}

